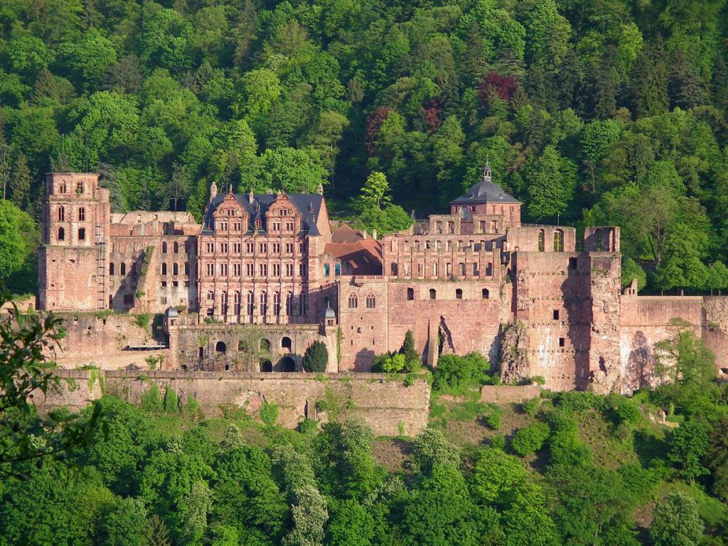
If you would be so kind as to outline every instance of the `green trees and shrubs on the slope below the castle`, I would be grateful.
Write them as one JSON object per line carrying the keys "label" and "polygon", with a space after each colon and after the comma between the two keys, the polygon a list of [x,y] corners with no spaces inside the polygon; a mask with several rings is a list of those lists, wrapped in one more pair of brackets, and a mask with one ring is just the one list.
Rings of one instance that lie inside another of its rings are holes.
{"label": "green trees and shrubs on the slope below the castle", "polygon": [[[28,320],[16,380],[39,371]],[[139,406],[106,394],[76,416],[1,398],[0,546],[728,545],[728,384],[692,329],[663,344],[675,382],[632,398],[484,404],[486,359],[443,356],[414,372],[433,385],[414,438],[375,438],[331,392],[328,422],[298,430],[276,404],[211,418],[151,381]]]}

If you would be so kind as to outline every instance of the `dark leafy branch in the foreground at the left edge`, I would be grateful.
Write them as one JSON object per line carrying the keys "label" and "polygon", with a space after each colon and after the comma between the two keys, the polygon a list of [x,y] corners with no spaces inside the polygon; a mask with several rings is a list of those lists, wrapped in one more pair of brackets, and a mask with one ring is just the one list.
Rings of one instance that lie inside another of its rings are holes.
{"label": "dark leafy branch in the foreground at the left edge", "polygon": [[[0,292],[0,305],[8,301],[7,292]],[[60,319],[24,313],[15,303],[0,316],[0,473],[24,478],[13,463],[40,467],[45,457],[66,459],[69,448],[90,442],[95,427],[106,427],[100,402],[88,419],[64,410],[41,417],[33,404],[37,393],[61,387],[46,353],[64,335]]]}

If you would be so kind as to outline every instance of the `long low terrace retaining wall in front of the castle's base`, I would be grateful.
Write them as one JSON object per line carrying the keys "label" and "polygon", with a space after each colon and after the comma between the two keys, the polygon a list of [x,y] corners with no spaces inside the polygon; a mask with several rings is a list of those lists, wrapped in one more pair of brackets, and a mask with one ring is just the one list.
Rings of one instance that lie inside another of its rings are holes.
{"label": "long low terrace retaining wall in front of the castle's base", "polygon": [[[98,373],[98,372],[96,372]],[[415,435],[427,427],[430,386],[424,380],[405,386],[403,381],[389,380],[382,374],[236,374],[228,372],[100,372],[101,380],[90,381],[88,370],[59,370],[63,382],[60,392],[39,394],[35,404],[41,411],[66,406],[79,410],[108,393],[132,404],[152,385],[176,391],[181,404],[192,396],[205,417],[218,417],[223,409],[244,409],[258,418],[263,401],[274,402],[280,409],[278,422],[294,428],[304,417],[326,421],[339,417],[363,417],[376,435]],[[102,388],[103,385],[103,388]],[[317,410],[317,402],[320,410]],[[323,404],[322,404],[323,403]],[[401,430],[400,430],[401,429]]]}

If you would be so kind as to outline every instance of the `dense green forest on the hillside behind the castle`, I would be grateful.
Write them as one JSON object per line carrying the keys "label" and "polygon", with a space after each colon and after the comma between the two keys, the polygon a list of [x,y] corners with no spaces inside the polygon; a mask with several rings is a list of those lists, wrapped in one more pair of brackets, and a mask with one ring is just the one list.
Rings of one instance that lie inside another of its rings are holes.
{"label": "dense green forest on the hillside behind the castle", "polygon": [[625,281],[725,289],[727,34],[725,0],[4,0],[0,277],[33,290],[50,170],[198,218],[321,183],[381,233],[488,160],[528,222],[620,225]]}

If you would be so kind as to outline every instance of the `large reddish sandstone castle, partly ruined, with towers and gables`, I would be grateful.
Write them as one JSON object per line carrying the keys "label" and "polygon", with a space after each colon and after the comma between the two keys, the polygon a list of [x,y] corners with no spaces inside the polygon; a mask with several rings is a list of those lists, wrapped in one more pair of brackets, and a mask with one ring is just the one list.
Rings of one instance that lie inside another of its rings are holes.
{"label": "large reddish sandstone castle, partly ruined, with towers and gables", "polygon": [[[478,351],[506,381],[631,392],[652,380],[654,342],[680,317],[728,372],[727,298],[643,297],[634,283],[622,292],[619,228],[586,228],[577,241],[574,228],[523,224],[521,202],[488,166],[449,214],[381,239],[332,227],[323,188],[213,184],[199,225],[186,212],[112,214],[98,175],[50,173],[42,214],[38,305],[74,316],[71,357],[95,345],[164,350],[163,369],[294,372],[322,340],[327,371],[367,372],[412,330],[431,366]],[[79,324],[103,310],[163,324],[137,342],[105,333],[106,318]]]}

